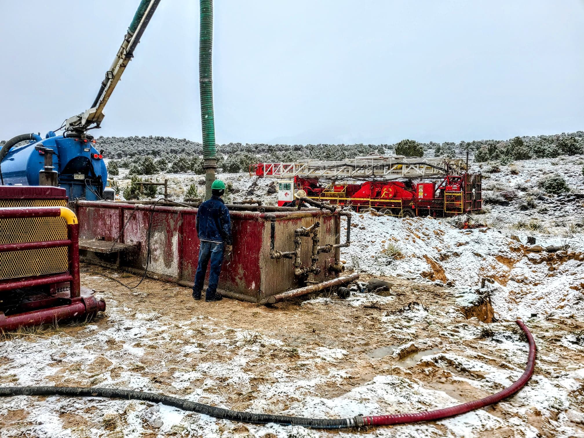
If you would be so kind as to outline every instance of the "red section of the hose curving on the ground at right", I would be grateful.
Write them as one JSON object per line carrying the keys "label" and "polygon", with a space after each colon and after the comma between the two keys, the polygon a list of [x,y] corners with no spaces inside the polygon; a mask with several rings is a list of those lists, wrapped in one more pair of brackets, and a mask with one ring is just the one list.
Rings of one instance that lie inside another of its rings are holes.
{"label": "red section of the hose curving on the ground at right", "polygon": [[474,409],[484,408],[485,406],[492,405],[493,403],[500,402],[503,398],[507,398],[510,395],[515,394],[521,388],[525,386],[527,381],[531,378],[533,374],[533,369],[536,366],[536,342],[531,336],[531,332],[527,328],[523,321],[517,319],[517,325],[523,330],[529,341],[529,357],[527,358],[527,366],[525,367],[525,372],[523,375],[510,387],[505,388],[496,394],[489,395],[489,397],[481,398],[480,400],[475,400],[468,403],[463,403],[462,405],[452,406],[451,408],[438,409],[437,411],[426,411],[417,413],[396,413],[392,415],[373,415],[364,416],[363,425],[364,426],[390,426],[390,425],[401,425],[405,423],[416,423],[419,421],[433,421],[441,420],[443,418],[448,418],[454,415],[460,415],[461,413],[467,413],[474,411]]}

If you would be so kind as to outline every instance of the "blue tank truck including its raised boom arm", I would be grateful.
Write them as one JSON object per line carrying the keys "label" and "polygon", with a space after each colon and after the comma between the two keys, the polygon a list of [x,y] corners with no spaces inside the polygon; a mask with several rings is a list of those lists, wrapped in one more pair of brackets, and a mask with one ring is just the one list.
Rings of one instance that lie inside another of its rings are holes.
{"label": "blue tank truck including its raised boom arm", "polygon": [[91,108],[65,120],[57,130],[39,134],[21,134],[0,148],[0,184],[8,186],[60,186],[69,200],[111,199],[113,190],[107,184],[103,151],[87,133],[99,128],[103,108],[120,81],[134,55],[134,49],[150,22],[160,0],[142,0],[112,66],[106,71],[98,95]]}

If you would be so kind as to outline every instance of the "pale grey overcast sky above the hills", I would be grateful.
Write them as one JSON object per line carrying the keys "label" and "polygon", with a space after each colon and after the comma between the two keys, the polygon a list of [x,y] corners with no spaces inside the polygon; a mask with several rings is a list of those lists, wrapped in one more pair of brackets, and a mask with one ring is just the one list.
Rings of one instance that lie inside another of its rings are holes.
{"label": "pale grey overcast sky above the hills", "polygon": [[[138,0],[0,0],[0,139],[91,105]],[[584,0],[216,0],[218,143],[584,129]],[[200,141],[199,2],[162,0],[96,135]]]}

